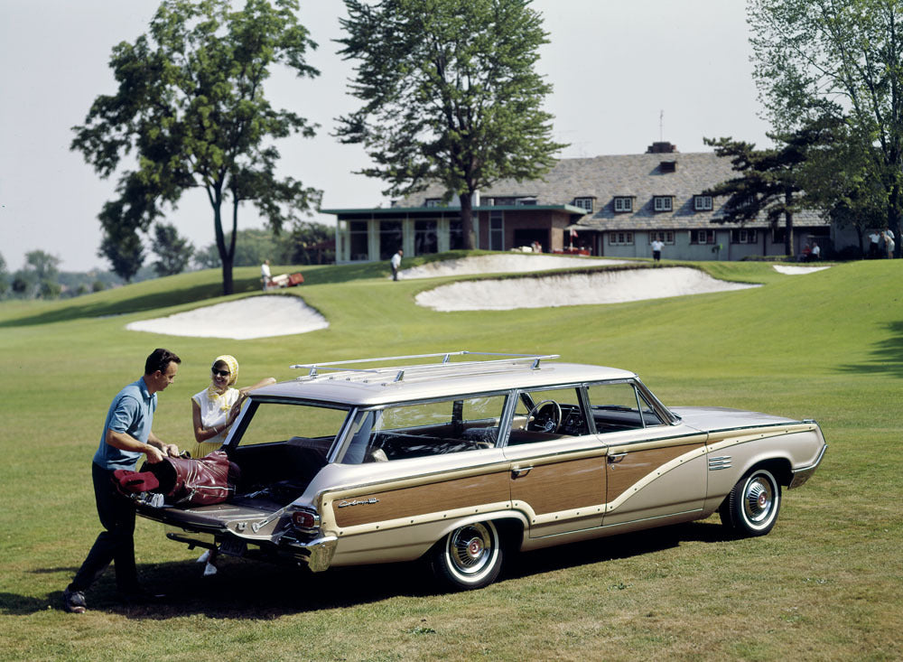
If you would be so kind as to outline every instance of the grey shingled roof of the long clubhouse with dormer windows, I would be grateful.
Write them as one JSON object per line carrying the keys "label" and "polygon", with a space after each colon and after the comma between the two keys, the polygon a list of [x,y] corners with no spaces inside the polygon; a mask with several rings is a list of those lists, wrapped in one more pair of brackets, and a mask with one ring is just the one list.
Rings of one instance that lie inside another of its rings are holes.
{"label": "grey shingled roof of the long clubhouse with dormer windows", "polygon": [[[663,165],[664,163],[664,165]],[[504,180],[480,191],[480,199],[535,199],[537,205],[573,204],[577,198],[595,198],[594,210],[577,221],[597,230],[711,228],[723,217],[727,198],[713,200],[712,210],[694,209],[694,196],[737,176],[731,160],[708,153],[621,154],[583,159],[561,159],[541,180]],[[442,198],[440,185],[399,200],[402,207],[421,207],[425,200]],[[656,211],[656,196],[672,196],[673,210]],[[633,210],[615,212],[614,199],[630,197]],[[486,209],[481,202],[479,209]],[[825,225],[813,211],[794,215],[796,226]],[[745,227],[767,228],[764,215]]]}

